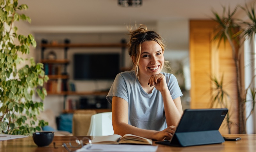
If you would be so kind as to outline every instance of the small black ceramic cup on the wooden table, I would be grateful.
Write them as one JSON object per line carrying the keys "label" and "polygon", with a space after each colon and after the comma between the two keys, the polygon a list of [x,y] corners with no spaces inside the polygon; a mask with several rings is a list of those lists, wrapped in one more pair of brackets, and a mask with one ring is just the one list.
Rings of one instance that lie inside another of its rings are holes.
{"label": "small black ceramic cup on the wooden table", "polygon": [[48,146],[52,143],[54,132],[34,132],[33,140],[38,147]]}

